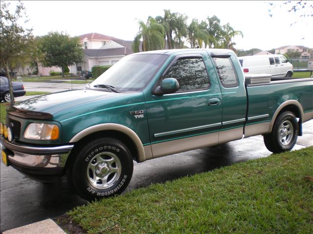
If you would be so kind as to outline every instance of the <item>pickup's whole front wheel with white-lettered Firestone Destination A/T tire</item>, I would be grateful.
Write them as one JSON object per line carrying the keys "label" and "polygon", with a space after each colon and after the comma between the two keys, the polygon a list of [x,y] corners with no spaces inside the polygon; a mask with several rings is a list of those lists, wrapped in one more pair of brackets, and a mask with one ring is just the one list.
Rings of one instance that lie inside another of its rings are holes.
{"label": "pickup's whole front wheel with white-lettered Firestone Destination A/T tire", "polygon": [[118,139],[104,137],[79,150],[69,168],[69,182],[86,200],[99,200],[121,194],[133,176],[133,158]]}

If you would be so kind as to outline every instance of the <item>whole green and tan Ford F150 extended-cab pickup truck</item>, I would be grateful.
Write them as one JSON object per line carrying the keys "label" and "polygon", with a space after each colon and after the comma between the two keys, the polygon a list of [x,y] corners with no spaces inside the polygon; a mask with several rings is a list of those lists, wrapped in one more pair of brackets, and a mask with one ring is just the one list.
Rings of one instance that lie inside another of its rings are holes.
{"label": "whole green and tan Ford F150 extended-cab pickup truck", "polygon": [[66,174],[93,200],[121,194],[133,160],[255,135],[283,152],[312,118],[312,78],[245,78],[231,50],[150,51],[124,57],[83,90],[10,106],[1,157],[33,179]]}

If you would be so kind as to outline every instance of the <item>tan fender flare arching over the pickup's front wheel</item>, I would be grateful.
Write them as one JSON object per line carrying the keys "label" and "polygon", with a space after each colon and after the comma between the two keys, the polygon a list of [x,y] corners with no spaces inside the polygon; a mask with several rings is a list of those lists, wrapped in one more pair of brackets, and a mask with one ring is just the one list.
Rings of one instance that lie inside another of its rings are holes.
{"label": "tan fender flare arching over the pickup's front wheel", "polygon": [[146,160],[145,150],[143,148],[142,142],[137,134],[130,128],[116,123],[102,123],[98,125],[91,126],[84,129],[83,131],[77,133],[73,138],[70,139],[70,143],[77,142],[80,139],[99,131],[112,130],[126,134],[132,139],[134,145],[138,152],[137,162],[144,162]]}

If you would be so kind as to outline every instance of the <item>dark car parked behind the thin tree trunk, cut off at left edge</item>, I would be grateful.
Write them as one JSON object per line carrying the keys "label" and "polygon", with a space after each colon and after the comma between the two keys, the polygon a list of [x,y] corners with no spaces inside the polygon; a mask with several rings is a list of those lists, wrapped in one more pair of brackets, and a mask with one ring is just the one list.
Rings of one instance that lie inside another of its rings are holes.
{"label": "dark car parked behind the thin tree trunk, cut off at left edge", "polygon": [[[10,101],[8,78],[0,77],[0,100]],[[22,82],[12,82],[14,97],[24,96],[26,91]]]}

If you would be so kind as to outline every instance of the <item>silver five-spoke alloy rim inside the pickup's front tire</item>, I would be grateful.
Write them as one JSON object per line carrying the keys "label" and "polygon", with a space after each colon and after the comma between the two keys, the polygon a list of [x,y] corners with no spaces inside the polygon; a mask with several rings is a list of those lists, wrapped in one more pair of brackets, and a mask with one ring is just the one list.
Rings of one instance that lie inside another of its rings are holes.
{"label": "silver five-spoke alloy rim inside the pickup's front tire", "polygon": [[111,152],[102,152],[89,161],[87,178],[93,187],[107,189],[119,179],[121,172],[119,158]]}

